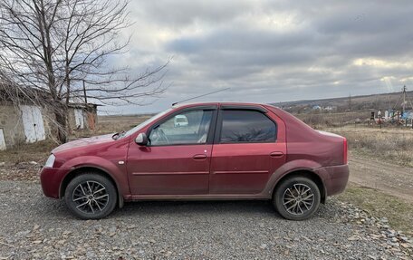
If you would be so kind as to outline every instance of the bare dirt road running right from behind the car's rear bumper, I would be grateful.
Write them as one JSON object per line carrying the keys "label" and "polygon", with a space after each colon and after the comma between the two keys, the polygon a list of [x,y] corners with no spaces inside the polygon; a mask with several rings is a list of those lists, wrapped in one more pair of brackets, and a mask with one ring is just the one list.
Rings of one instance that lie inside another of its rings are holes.
{"label": "bare dirt road running right from behind the car's rear bumper", "polygon": [[351,156],[350,181],[413,202],[413,169]]}

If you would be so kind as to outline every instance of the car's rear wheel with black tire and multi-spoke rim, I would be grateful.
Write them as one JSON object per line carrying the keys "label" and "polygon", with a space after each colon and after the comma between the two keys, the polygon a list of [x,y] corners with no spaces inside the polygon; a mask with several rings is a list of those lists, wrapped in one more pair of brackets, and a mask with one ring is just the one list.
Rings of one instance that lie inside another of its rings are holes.
{"label": "car's rear wheel with black tire and multi-spoke rim", "polygon": [[304,177],[284,179],[273,195],[275,209],[290,220],[300,221],[312,217],[320,201],[320,189],[310,178]]}

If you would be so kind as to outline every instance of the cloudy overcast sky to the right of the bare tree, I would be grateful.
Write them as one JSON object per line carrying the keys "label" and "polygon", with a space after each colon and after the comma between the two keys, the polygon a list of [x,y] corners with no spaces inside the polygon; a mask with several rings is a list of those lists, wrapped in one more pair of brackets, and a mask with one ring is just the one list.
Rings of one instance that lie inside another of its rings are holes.
{"label": "cloudy overcast sky to the right of the bare tree", "polygon": [[[413,2],[131,0],[130,51],[139,73],[168,64],[165,94],[144,107],[196,101],[278,102],[413,90]],[[148,100],[149,101],[149,100]]]}

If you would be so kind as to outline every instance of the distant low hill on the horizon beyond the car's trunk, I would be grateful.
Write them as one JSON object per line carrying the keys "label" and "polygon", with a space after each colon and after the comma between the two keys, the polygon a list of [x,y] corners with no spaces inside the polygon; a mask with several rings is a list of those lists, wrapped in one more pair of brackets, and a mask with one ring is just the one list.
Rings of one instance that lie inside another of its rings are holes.
{"label": "distant low hill on the horizon beyond the car's trunk", "polygon": [[[406,109],[411,110],[410,102],[413,103],[413,91],[407,91],[408,101]],[[378,111],[401,110],[402,106],[401,91],[393,93],[382,93],[362,96],[349,96],[341,98],[321,99],[321,100],[303,100],[303,101],[286,101],[273,103],[273,105],[283,108],[285,111],[302,113],[313,110],[326,111]]]}

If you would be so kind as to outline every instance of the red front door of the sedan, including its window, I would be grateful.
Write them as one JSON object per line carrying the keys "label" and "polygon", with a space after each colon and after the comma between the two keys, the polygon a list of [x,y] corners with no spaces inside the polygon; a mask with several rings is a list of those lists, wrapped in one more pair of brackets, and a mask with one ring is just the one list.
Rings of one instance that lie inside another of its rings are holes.
{"label": "red front door of the sedan, including its window", "polygon": [[207,106],[175,112],[152,125],[147,146],[130,144],[131,193],[207,194],[215,124],[216,106]]}

